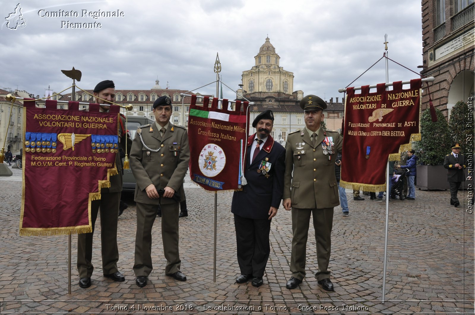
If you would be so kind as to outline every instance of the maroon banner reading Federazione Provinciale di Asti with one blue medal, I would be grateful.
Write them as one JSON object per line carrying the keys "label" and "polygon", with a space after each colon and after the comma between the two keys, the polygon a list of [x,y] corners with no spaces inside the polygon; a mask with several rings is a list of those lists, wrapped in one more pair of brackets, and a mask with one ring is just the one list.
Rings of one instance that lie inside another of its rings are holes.
{"label": "maroon banner reading Federazione Provinciale di Asti with one blue medal", "polygon": [[369,85],[361,94],[347,88],[343,124],[342,179],[348,189],[386,190],[388,159],[399,160],[400,151],[411,148],[411,141],[420,140],[420,79],[411,80],[410,88],[394,82],[392,91],[385,83],[375,93]]}

